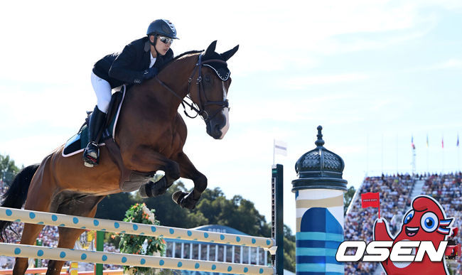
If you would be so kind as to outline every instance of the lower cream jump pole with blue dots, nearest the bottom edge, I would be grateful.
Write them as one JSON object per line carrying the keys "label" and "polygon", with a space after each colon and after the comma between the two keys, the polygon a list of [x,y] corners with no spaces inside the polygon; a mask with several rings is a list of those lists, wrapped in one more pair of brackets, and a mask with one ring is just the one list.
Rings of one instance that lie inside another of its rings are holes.
{"label": "lower cream jump pole with blue dots, nearest the bottom edge", "polygon": [[208,271],[227,274],[274,274],[272,266],[231,264],[219,261],[199,261],[155,256],[141,256],[112,252],[88,252],[59,247],[36,247],[25,244],[0,244],[0,255],[9,257],[54,259],[58,261],[85,261],[99,264],[146,266],[161,269]]}

